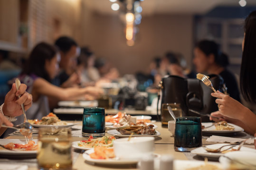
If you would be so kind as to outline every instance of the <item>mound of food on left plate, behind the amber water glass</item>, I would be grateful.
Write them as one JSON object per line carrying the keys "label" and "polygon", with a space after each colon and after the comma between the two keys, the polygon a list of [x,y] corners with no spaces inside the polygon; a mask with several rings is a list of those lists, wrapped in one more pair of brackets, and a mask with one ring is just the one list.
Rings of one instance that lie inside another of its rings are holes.
{"label": "mound of food on left plate, behind the amber water glass", "polygon": [[41,120],[34,119],[28,120],[30,124],[34,125],[66,125],[65,121],[61,121],[56,114],[49,113],[47,116],[44,116]]}

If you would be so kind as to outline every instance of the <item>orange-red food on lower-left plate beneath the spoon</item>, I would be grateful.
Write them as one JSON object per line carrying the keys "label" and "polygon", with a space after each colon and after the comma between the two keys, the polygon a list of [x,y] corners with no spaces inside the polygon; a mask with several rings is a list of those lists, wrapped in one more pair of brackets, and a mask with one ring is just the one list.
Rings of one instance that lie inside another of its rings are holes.
{"label": "orange-red food on lower-left plate beneath the spoon", "polygon": [[30,140],[28,144],[14,144],[9,143],[4,145],[6,149],[14,150],[14,151],[36,151],[38,150],[38,144],[35,144],[34,141]]}

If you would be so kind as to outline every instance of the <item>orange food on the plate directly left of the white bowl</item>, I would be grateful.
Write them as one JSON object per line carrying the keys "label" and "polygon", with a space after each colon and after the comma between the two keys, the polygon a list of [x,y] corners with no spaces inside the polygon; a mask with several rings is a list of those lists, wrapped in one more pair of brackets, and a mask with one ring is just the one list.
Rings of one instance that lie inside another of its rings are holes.
{"label": "orange food on the plate directly left of the white bowl", "polygon": [[114,149],[104,146],[95,146],[94,153],[91,153],[89,156],[92,159],[109,159],[115,157]]}

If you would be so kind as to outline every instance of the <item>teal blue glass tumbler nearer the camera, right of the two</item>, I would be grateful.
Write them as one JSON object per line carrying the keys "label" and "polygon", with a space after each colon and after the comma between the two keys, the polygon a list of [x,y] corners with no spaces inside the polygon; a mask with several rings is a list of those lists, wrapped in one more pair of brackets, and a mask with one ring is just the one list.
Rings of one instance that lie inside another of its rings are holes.
{"label": "teal blue glass tumbler nearer the camera, right of the two", "polygon": [[179,152],[190,152],[200,146],[202,146],[201,118],[176,118],[174,150]]}

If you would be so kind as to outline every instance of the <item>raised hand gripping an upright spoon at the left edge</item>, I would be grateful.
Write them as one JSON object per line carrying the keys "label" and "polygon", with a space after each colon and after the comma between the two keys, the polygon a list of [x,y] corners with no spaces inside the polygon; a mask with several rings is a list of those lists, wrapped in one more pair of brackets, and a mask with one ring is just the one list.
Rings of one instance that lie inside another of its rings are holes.
{"label": "raised hand gripping an upright spoon at the left edge", "polygon": [[10,121],[15,121],[15,117],[22,114],[21,104],[24,105],[25,110],[28,110],[32,105],[32,95],[27,93],[26,89],[27,85],[21,84],[17,91],[16,85],[13,83],[10,91],[6,94],[4,103],[0,106],[0,136],[6,130],[6,128],[1,127],[1,125],[5,124],[12,127],[13,124]]}

